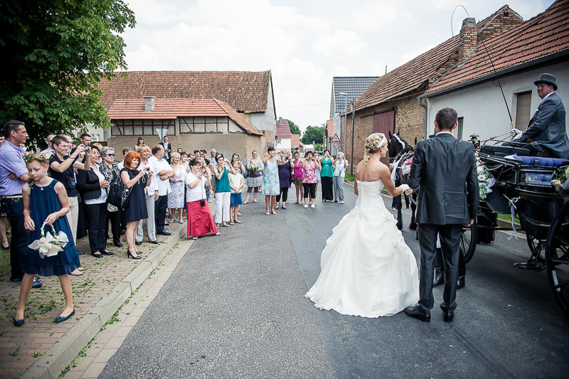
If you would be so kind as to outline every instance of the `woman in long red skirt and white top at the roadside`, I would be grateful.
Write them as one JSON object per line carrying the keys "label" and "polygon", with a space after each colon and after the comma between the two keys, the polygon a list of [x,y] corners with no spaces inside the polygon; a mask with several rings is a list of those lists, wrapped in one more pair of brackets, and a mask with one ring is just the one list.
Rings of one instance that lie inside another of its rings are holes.
{"label": "woman in long red skirt and white top at the roadside", "polygon": [[213,222],[208,202],[206,201],[206,182],[209,183],[207,171],[202,173],[201,160],[190,161],[190,172],[186,175],[186,203],[188,204],[188,237],[198,237],[211,233],[220,235],[216,223]]}

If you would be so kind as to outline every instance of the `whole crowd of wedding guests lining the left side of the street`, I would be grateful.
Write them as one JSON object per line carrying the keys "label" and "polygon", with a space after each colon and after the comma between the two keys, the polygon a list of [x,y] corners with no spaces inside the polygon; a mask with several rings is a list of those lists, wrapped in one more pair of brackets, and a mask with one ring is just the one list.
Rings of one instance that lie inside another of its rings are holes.
{"label": "whole crowd of wedding guests lining the left side of the street", "polygon": [[[154,145],[139,137],[135,146],[115,151],[92,142],[87,133],[78,142],[68,134],[48,134],[46,149],[33,152],[26,148],[27,139],[25,124],[17,120],[6,122],[0,133],[1,246],[10,250],[11,281],[22,282],[15,325],[23,324],[31,288],[42,286],[39,274],[60,279],[66,306],[56,321],[73,316],[68,275],[83,275],[80,255],[85,252],[76,248],[82,237],[88,239],[90,254],[102,258],[115,255],[108,248],[111,240],[115,247],[123,247],[124,235],[127,257],[139,260],[137,246],[144,238],[157,244],[156,236],[171,235],[169,228],[176,223],[187,221],[187,235],[193,240],[220,235],[221,227],[242,223],[241,205],[257,203],[259,193],[265,196],[265,214],[275,215],[278,208],[287,208],[293,183],[294,204],[304,208],[317,206],[319,183],[322,201],[344,203],[343,153],[334,159],[328,150],[323,156],[308,151],[301,159],[299,151],[291,156],[269,146],[261,153],[251,151],[250,159],[243,161],[239,154],[229,158],[216,149],[173,151],[168,136]],[[117,205],[111,194],[119,190],[128,196]],[[47,218],[40,216],[44,204],[38,204],[45,196],[57,199],[48,201]],[[213,198],[212,214],[208,203]],[[66,231],[69,242],[64,252],[38,261],[38,252],[28,245],[50,225],[59,225],[55,233]]]}

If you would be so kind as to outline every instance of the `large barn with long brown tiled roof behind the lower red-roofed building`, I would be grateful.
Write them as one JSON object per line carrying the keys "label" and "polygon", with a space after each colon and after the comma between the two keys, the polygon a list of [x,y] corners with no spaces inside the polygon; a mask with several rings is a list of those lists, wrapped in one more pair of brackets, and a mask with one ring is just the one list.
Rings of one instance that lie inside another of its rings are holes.
{"label": "large barn with long brown tiled roof behind the lower red-roofed building", "polygon": [[[236,110],[243,119],[262,132],[267,144],[275,142],[275,97],[269,71],[130,71],[127,78],[117,73],[101,80],[101,102],[107,110],[117,99],[217,99]],[[110,130],[90,128],[100,140],[112,139]],[[147,132],[144,130],[143,132]],[[175,134],[174,130],[169,134]],[[149,134],[142,134],[150,137]],[[156,135],[156,134],[154,134]],[[132,140],[136,143],[137,134]],[[129,144],[128,146],[130,146]],[[203,146],[211,149],[216,146]],[[176,146],[177,148],[177,146]]]}

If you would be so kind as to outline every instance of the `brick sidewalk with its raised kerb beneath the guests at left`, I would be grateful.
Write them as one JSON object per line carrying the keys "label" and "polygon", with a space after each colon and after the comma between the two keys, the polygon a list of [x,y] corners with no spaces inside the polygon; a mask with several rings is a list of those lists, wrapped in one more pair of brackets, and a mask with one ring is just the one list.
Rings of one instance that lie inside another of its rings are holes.
{"label": "brick sidewalk with its raised kerb beneath the guests at left", "polygon": [[170,226],[171,236],[159,236],[159,245],[143,242],[142,260],[127,259],[127,243],[108,247],[115,255],[102,258],[88,253],[87,237],[78,241],[85,274],[71,277],[75,316],[61,324],[53,321],[65,305],[57,277],[42,277],[43,287],[32,289],[26,304],[26,324],[12,319],[20,283],[0,279],[0,378],[56,378],[139,287],[159,262],[186,235],[186,223]]}

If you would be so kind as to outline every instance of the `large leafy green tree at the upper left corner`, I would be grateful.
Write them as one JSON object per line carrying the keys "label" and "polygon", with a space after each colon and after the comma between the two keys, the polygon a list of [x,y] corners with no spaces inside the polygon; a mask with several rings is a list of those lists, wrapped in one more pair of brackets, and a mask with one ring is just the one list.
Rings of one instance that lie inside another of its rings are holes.
{"label": "large leafy green tree at the upper left corner", "polygon": [[110,127],[98,82],[127,69],[120,33],[134,23],[122,0],[2,1],[0,121],[25,122],[32,144],[87,123]]}

